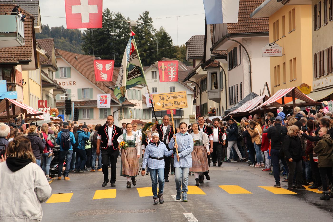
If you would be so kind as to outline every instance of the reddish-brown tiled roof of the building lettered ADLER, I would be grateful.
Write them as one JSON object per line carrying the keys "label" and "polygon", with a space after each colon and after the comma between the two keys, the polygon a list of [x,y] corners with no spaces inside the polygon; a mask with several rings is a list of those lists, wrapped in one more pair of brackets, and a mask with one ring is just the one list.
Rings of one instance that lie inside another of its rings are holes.
{"label": "reddish-brown tiled roof of the building lettered ADLER", "polygon": [[[83,55],[73,52],[68,52],[60,49],[56,49],[56,55],[63,57],[69,64],[71,64],[76,70],[78,70],[83,76],[85,76],[90,82],[96,85],[105,93],[111,93],[111,97],[118,101],[113,89],[108,88],[104,82],[97,82],[95,78],[94,59],[95,56]],[[122,103],[123,105],[134,105],[127,99]]]}

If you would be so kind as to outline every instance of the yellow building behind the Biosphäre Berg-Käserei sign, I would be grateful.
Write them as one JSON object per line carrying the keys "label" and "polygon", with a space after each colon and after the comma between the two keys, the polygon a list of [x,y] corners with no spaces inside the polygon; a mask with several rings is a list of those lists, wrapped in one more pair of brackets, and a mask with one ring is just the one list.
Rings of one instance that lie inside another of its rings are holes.
{"label": "yellow building behind the Biosph\u00e4re Berg-K\u00e4serei sign", "polygon": [[266,0],[250,15],[268,17],[269,43],[282,47],[282,56],[270,57],[272,94],[302,83],[312,85],[311,15],[311,1],[307,0]]}

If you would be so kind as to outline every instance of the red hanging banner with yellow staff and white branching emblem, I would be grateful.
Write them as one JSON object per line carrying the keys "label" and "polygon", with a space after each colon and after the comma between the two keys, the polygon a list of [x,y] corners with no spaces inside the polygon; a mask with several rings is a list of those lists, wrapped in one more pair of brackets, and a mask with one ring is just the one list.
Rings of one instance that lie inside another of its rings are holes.
{"label": "red hanging banner with yellow staff and white branching emblem", "polygon": [[178,81],[178,61],[159,61],[160,82]]}

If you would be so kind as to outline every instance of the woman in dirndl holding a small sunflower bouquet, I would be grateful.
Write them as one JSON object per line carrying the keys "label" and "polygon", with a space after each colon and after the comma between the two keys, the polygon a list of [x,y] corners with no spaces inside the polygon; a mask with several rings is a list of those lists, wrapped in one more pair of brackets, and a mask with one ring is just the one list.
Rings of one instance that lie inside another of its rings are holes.
{"label": "woman in dirndl holding a small sunflower bouquet", "polygon": [[138,176],[139,170],[139,158],[140,158],[140,137],[138,134],[132,132],[133,126],[131,123],[126,124],[127,133],[121,135],[117,141],[119,143],[119,149],[121,149],[120,143],[127,142],[128,146],[125,150],[122,150],[122,162],[120,166],[120,175],[127,178],[126,188],[131,188],[131,178],[133,186],[137,185],[135,177]]}

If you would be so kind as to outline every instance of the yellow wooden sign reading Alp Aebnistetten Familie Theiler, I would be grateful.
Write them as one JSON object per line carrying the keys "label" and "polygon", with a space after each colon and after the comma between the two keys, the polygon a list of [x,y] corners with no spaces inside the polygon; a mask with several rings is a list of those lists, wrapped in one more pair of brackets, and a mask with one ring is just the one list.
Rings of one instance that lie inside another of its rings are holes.
{"label": "yellow wooden sign reading Alp Aebnistetten Familie Theiler", "polygon": [[185,91],[160,93],[154,94],[152,96],[154,100],[155,111],[188,107]]}

